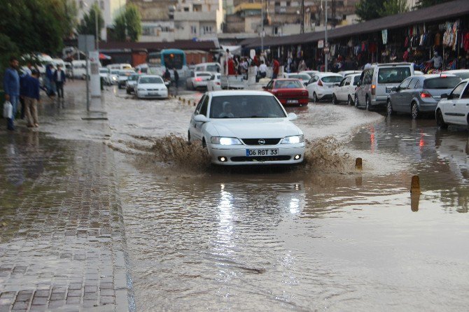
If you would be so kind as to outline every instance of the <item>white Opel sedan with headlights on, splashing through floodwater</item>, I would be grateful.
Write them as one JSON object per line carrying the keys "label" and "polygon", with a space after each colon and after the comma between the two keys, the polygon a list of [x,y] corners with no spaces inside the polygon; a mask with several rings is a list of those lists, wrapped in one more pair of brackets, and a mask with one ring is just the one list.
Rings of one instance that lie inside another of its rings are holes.
{"label": "white Opel sedan with headlights on, splashing through floodwater", "polygon": [[207,92],[190,118],[188,139],[201,142],[213,164],[297,164],[305,143],[295,119],[269,92]]}

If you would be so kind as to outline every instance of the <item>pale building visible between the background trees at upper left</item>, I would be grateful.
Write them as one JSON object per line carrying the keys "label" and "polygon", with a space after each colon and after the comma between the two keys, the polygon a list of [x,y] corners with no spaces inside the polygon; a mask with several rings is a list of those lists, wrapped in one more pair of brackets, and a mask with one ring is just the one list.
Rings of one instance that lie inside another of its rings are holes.
{"label": "pale building visible between the background trees at upper left", "polygon": [[112,27],[116,16],[125,8],[127,0],[75,0],[78,8],[78,20],[83,19],[83,15],[88,13],[94,3],[98,3],[104,18],[104,26],[101,30],[101,38],[107,40],[107,29]]}

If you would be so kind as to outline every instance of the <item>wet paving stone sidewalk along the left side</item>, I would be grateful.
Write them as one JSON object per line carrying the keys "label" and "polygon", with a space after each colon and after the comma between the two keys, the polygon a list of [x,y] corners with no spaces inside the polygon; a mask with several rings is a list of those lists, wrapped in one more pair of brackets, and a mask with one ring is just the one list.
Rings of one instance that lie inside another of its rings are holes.
{"label": "wet paving stone sidewalk along the left side", "polygon": [[128,311],[113,151],[21,127],[7,133],[3,125],[0,312]]}

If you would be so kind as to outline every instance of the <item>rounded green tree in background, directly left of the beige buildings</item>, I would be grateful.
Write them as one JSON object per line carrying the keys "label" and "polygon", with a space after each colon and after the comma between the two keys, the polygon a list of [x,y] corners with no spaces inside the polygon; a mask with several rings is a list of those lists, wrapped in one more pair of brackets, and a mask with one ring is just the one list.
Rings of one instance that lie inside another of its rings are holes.
{"label": "rounded green tree in background, directly left of the beige buildings", "polygon": [[139,9],[133,3],[127,4],[125,10],[114,20],[114,39],[117,41],[135,42],[141,36],[141,16]]}

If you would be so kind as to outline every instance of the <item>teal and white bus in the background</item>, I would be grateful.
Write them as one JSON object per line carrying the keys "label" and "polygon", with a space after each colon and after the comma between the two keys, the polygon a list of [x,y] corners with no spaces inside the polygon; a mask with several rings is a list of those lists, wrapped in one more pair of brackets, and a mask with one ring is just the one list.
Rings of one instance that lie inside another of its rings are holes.
{"label": "teal and white bus in the background", "polygon": [[164,49],[160,52],[150,52],[148,53],[147,63],[150,67],[169,69],[172,76],[172,70],[176,69],[180,78],[186,77],[188,73],[186,52],[179,49]]}

